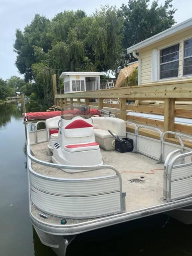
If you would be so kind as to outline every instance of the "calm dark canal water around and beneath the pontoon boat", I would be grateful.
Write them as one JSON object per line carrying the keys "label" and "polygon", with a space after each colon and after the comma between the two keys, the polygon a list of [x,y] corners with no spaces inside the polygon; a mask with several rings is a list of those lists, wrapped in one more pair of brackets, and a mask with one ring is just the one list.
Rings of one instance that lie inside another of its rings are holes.
{"label": "calm dark canal water around and beneath the pontoon boat", "polygon": [[[55,256],[28,214],[25,132],[20,103],[0,105],[0,256]],[[127,195],[128,196],[128,195]],[[67,256],[189,256],[192,225],[158,214],[81,234]]]}

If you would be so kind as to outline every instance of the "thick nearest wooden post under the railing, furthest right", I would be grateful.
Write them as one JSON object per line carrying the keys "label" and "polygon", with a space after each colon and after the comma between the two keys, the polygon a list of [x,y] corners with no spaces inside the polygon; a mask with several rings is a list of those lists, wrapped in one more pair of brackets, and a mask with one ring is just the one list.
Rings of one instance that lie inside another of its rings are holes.
{"label": "thick nearest wooden post under the railing, furthest right", "polygon": [[[164,132],[175,131],[175,99],[166,98],[164,101]],[[170,134],[171,135],[171,134]]]}

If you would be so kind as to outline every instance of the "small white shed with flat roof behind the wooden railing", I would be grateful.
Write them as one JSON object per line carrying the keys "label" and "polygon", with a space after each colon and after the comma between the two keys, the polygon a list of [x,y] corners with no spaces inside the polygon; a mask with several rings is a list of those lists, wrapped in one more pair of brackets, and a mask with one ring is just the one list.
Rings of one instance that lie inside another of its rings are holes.
{"label": "small white shed with flat roof behind the wooden railing", "polygon": [[62,72],[64,93],[83,92],[100,89],[102,72]]}

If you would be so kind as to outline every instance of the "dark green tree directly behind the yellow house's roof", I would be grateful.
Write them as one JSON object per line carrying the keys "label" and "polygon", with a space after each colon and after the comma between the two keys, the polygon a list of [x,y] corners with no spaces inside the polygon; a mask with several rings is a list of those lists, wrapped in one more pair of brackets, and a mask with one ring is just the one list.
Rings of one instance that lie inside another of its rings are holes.
{"label": "dark green tree directly behind the yellow house's roof", "polygon": [[158,1],[128,0],[128,6],[121,6],[120,16],[124,18],[124,48],[128,48],[142,40],[170,28],[176,22],[172,8],[172,0],[166,0],[164,5],[158,6]]}

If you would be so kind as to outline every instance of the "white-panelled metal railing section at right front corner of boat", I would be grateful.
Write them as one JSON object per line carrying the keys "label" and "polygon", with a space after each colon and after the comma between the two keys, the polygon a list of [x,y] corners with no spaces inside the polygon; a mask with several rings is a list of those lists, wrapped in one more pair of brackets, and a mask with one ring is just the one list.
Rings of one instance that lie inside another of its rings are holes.
{"label": "white-panelled metal railing section at right front corner of boat", "polygon": [[180,152],[182,149],[171,152],[164,166],[163,196],[168,202],[192,195],[192,151]]}

